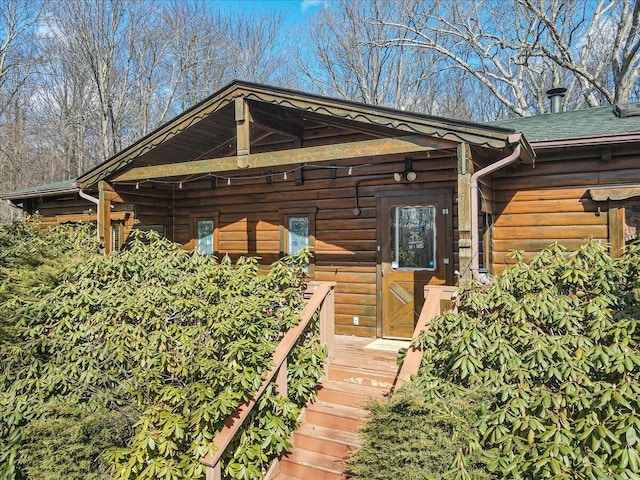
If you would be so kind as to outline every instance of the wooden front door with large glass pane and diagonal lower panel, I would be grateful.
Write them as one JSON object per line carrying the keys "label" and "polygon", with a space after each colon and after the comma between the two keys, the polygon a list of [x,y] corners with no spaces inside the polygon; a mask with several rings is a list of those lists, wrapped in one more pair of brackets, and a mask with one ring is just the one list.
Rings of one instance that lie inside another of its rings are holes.
{"label": "wooden front door with large glass pane and diagonal lower panel", "polygon": [[379,335],[411,338],[424,286],[451,284],[451,194],[378,198]]}

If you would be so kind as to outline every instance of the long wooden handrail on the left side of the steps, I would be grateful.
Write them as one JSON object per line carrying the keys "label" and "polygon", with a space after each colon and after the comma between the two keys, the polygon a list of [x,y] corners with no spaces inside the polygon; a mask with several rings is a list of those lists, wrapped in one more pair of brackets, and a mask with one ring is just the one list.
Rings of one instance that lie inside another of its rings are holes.
{"label": "long wooden handrail on the left side of the steps", "polygon": [[[273,368],[267,373],[258,391],[240,405],[238,409],[232,413],[224,422],[224,426],[218,432],[213,439],[213,444],[217,447],[215,453],[207,454],[200,460],[200,463],[205,465],[206,479],[207,480],[221,480],[222,468],[220,466],[220,459],[233,440],[235,434],[240,430],[240,427],[247,419],[253,407],[260,400],[260,396],[264,393],[269,384],[276,378],[278,384],[278,391],[281,395],[286,395],[286,368],[287,357],[291,352],[291,349],[300,338],[300,335],[304,332],[313,317],[313,314],[319,311],[320,314],[320,342],[327,345],[329,351],[329,359],[333,354],[333,305],[334,297],[333,290],[335,283],[333,282],[313,282],[309,285],[309,289],[313,290],[311,299],[307,302],[302,313],[300,314],[300,322],[289,329],[289,331],[282,337],[282,340],[276,347],[275,351],[271,355],[273,360]],[[331,327],[323,325],[331,323]],[[329,338],[330,337],[330,338]],[[284,391],[283,391],[284,390]]]}

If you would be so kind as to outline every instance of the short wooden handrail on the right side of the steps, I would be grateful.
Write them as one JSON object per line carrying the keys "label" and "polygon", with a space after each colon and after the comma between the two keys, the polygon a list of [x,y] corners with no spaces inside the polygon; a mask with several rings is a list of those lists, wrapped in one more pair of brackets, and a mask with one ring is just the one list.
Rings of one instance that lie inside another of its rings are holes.
{"label": "short wooden handrail on the right side of the steps", "polygon": [[[442,300],[451,300],[453,294],[457,291],[457,287],[450,287],[444,285],[425,285],[424,293],[425,300],[420,316],[418,317],[418,323],[413,330],[413,337],[416,338],[420,333],[429,328],[431,321],[440,313],[442,309],[440,303]],[[400,373],[398,373],[398,379],[394,386],[394,390],[400,388],[404,383],[411,380],[411,376],[418,373],[420,364],[422,363],[422,349],[411,345],[407,349],[407,354],[402,362]]]}

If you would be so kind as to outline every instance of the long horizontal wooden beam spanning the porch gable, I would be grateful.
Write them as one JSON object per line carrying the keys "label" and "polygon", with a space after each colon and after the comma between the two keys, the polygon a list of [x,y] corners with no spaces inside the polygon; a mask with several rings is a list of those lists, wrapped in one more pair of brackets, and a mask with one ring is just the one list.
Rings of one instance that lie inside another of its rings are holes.
{"label": "long horizontal wooden beam spanning the porch gable", "polygon": [[[379,155],[408,154],[454,148],[457,144],[422,135],[381,138],[361,142],[339,143],[319,147],[297,148],[248,155],[248,166],[252,168],[276,167],[296,163],[313,163],[351,158],[374,157]],[[211,158],[192,162],[171,163],[149,167],[132,168],[112,180],[124,182],[149,180],[153,178],[200,175],[232,171],[238,168],[238,157]]]}

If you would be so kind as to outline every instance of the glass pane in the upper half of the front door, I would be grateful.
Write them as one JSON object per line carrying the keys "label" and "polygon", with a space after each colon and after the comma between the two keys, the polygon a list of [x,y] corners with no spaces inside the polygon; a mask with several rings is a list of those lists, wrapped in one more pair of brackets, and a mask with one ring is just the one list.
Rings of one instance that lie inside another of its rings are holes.
{"label": "glass pane in the upper half of the front door", "polygon": [[392,211],[391,247],[392,268],[435,270],[435,207],[395,207]]}

